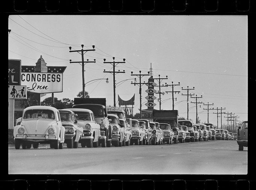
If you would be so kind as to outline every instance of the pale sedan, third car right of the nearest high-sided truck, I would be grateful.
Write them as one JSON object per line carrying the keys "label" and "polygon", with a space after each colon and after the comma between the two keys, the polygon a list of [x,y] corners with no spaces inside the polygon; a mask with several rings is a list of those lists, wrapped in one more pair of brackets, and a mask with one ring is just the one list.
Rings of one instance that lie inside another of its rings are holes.
{"label": "pale sedan, third car right of the nearest high-sided truck", "polygon": [[143,142],[146,142],[146,131],[141,128],[139,120],[131,119],[130,126],[132,132],[131,145],[142,145]]}

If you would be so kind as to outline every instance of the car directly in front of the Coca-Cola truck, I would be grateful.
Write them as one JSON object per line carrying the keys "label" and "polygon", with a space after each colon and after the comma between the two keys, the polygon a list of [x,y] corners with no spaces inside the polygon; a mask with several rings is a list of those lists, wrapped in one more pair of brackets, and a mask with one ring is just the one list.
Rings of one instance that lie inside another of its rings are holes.
{"label": "car directly in front of the Coca-Cola truck", "polygon": [[108,114],[109,125],[112,126],[112,140],[111,144],[115,147],[121,147],[124,141],[124,129],[120,124],[119,117],[115,114]]}

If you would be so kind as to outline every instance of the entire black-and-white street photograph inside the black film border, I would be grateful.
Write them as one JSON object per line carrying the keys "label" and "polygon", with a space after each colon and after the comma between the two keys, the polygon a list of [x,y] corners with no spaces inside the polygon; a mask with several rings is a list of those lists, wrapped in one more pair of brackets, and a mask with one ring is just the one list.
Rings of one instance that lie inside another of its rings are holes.
{"label": "entire black-and-white street photograph inside the black film border", "polygon": [[8,174],[247,174],[247,15],[8,29]]}

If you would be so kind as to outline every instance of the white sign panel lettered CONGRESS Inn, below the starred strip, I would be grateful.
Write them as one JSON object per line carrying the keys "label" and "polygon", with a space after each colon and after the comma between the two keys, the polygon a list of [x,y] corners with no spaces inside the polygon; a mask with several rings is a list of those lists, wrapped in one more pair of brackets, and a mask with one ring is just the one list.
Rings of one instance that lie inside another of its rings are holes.
{"label": "white sign panel lettered CONGRESS Inn, below the starred strip", "polygon": [[63,73],[21,73],[21,84],[40,94],[62,92]]}

